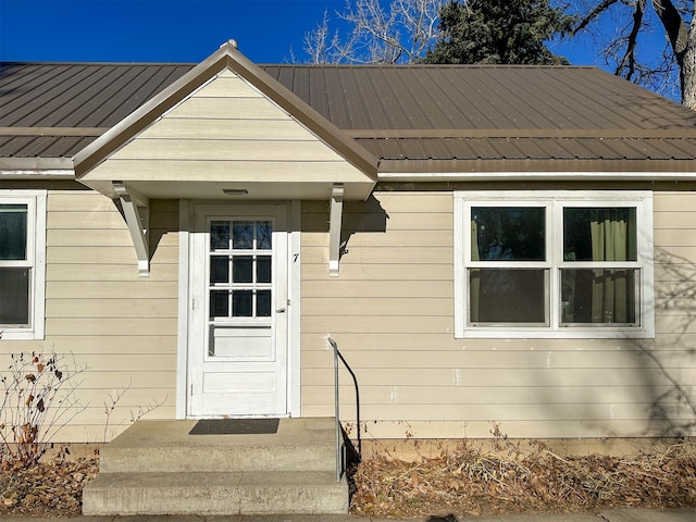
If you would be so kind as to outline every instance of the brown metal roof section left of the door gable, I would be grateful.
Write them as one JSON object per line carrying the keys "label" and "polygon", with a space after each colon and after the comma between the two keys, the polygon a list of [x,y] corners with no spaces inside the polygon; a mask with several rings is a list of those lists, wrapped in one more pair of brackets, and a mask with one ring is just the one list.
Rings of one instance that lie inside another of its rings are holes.
{"label": "brown metal roof section left of the door gable", "polygon": [[0,63],[0,157],[71,158],[191,67]]}

